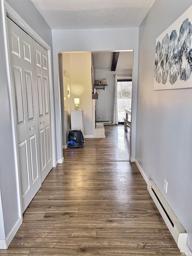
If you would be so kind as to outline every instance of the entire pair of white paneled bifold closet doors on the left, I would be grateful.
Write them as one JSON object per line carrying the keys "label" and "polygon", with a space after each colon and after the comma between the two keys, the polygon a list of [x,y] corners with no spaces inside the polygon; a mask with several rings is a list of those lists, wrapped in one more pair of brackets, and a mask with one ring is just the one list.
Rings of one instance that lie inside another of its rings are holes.
{"label": "entire pair of white paneled bifold closet doors on the left", "polygon": [[7,26],[24,212],[52,168],[48,55],[9,18]]}

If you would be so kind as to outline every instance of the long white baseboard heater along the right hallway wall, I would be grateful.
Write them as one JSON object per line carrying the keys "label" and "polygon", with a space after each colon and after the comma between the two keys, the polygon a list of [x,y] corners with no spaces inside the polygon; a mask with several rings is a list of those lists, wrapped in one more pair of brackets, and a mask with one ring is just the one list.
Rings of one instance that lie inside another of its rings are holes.
{"label": "long white baseboard heater along the right hallway wall", "polygon": [[161,216],[163,217],[168,229],[170,230],[180,252],[185,252],[185,245],[187,244],[187,233],[179,222],[178,218],[168,205],[167,201],[159,191],[155,182],[149,180],[147,189],[156,204]]}

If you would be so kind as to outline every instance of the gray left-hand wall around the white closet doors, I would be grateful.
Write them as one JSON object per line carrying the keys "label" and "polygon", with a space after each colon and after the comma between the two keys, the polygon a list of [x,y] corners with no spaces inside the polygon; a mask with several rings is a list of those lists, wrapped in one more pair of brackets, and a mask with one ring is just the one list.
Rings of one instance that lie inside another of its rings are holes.
{"label": "gray left-hand wall around the white closet doors", "polygon": [[[7,3],[52,47],[51,29],[30,0],[7,0]],[[2,2],[0,3],[2,13]],[[12,125],[10,120],[10,104],[6,70],[4,33],[0,16],[0,188],[5,237],[19,218],[16,189],[16,172],[13,155]],[[1,216],[0,216],[1,217]],[[0,232],[0,239],[4,239]]]}

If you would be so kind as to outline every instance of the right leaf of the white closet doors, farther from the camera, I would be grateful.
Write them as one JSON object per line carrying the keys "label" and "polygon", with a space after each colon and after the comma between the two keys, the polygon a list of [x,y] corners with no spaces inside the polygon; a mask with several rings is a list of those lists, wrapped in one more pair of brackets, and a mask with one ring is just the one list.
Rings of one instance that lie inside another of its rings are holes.
{"label": "right leaf of the white closet doors, farther from the camera", "polygon": [[53,167],[48,53],[36,41],[33,41],[33,49],[35,60],[35,79],[38,89],[38,126],[41,155],[41,182],[43,182]]}

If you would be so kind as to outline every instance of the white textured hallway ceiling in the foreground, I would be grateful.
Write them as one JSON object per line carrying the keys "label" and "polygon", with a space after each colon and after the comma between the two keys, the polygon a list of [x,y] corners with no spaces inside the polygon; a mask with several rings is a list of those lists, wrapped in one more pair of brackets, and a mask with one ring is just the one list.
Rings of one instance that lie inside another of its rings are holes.
{"label": "white textured hallway ceiling in the foreground", "polygon": [[155,0],[31,0],[51,29],[139,27]]}

